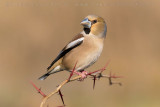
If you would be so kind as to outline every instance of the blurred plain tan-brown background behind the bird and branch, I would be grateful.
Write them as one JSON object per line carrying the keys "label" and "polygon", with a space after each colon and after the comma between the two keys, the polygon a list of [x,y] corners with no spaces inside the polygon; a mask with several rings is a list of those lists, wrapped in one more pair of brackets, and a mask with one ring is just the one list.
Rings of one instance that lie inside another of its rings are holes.
{"label": "blurred plain tan-brown background behind the bird and branch", "polygon": [[[0,1],[0,106],[38,107],[68,72],[37,78],[77,33],[89,14],[106,20],[103,53],[88,71],[103,67],[123,78],[109,86],[107,79],[72,82],[62,88],[67,107],[160,106],[160,1],[146,0],[1,0]],[[58,95],[47,101],[62,105]],[[46,104],[46,105],[47,105]]]}

